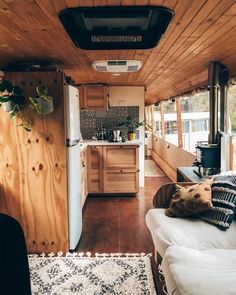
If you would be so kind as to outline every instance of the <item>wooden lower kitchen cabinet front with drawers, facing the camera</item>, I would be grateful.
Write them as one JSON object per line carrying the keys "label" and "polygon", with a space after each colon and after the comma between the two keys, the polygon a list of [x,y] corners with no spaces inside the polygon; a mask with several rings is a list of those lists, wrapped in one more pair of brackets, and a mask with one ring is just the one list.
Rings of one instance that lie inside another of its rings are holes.
{"label": "wooden lower kitchen cabinet front with drawers, facing the camera", "polygon": [[138,146],[91,146],[88,152],[89,193],[137,193]]}

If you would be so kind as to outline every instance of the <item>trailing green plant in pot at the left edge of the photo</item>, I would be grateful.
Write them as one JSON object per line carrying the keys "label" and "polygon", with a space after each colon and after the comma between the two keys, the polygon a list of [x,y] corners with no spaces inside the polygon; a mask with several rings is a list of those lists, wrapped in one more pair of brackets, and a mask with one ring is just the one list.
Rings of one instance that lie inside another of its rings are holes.
{"label": "trailing green plant in pot at the left edge of the photo", "polygon": [[22,126],[26,131],[31,131],[30,121],[25,120],[22,109],[25,105],[23,90],[14,86],[11,81],[4,79],[4,73],[0,71],[0,104],[4,111],[8,112],[11,121],[20,121],[17,126]]}

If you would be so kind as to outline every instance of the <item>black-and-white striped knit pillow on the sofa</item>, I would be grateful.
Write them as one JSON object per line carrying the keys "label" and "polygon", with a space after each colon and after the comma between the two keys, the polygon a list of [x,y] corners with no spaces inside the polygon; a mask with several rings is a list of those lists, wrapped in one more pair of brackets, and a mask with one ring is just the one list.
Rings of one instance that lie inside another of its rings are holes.
{"label": "black-and-white striped knit pillow on the sofa", "polygon": [[212,184],[212,204],[212,209],[199,217],[220,229],[228,229],[236,216],[236,174],[215,177]]}

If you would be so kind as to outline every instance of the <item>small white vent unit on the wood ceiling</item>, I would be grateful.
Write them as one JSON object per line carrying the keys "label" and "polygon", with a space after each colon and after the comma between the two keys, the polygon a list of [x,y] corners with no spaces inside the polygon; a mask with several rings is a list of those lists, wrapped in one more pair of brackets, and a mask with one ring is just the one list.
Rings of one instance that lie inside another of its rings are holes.
{"label": "small white vent unit on the wood ceiling", "polygon": [[142,65],[140,60],[99,60],[92,63],[96,71],[109,73],[137,72]]}

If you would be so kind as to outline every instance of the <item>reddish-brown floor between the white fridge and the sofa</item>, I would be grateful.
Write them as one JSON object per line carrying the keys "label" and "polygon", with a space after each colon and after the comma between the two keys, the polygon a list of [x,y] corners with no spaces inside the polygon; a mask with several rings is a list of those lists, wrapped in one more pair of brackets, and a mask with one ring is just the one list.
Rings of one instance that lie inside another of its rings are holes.
{"label": "reddish-brown floor between the white fridge and the sofa", "polygon": [[83,233],[77,251],[149,253],[153,250],[145,214],[155,192],[168,177],[145,178],[137,196],[91,196],[83,212]]}

